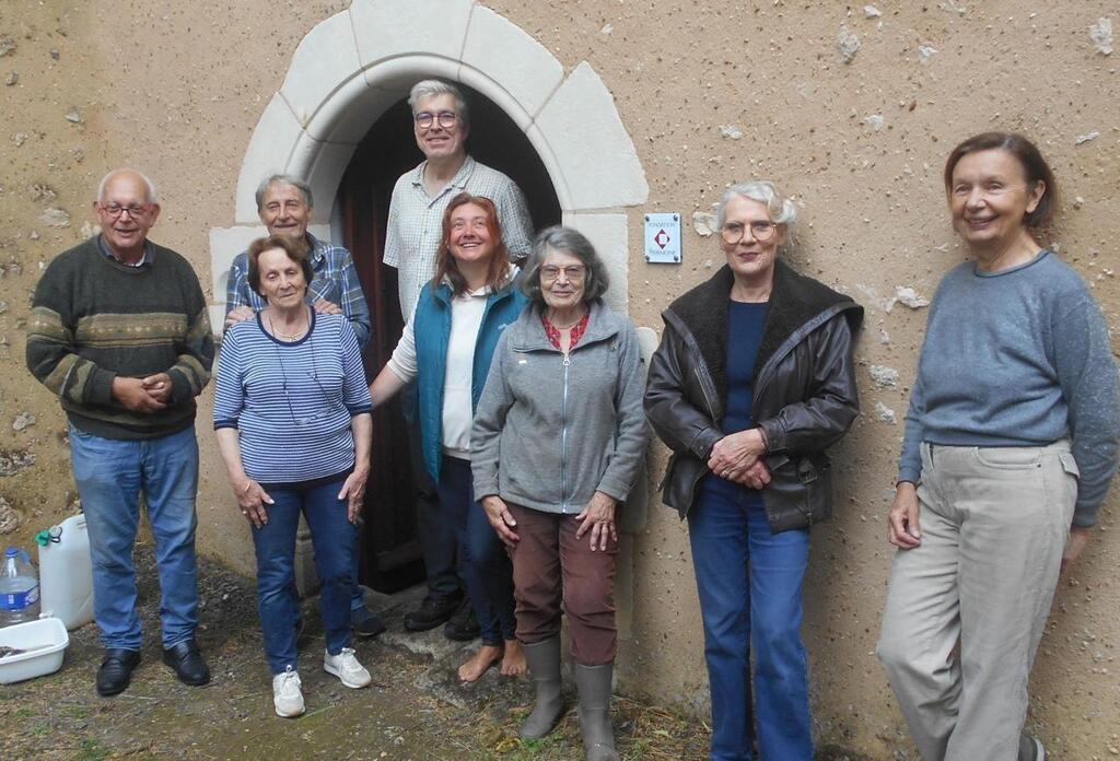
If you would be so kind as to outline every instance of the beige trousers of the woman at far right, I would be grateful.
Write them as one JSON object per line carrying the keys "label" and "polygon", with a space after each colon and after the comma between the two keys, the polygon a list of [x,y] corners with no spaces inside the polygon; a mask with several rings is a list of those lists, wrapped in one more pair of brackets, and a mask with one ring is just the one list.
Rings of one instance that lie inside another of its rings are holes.
{"label": "beige trousers of the woman at far right", "polygon": [[923,443],[917,496],[922,544],[895,554],[879,659],[924,761],[1014,761],[1077,466],[1067,441]]}

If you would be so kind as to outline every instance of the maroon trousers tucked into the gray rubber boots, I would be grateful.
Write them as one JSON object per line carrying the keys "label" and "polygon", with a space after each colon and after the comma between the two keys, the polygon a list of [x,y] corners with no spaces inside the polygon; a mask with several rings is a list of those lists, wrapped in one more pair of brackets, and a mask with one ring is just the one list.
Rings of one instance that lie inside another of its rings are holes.
{"label": "maroon trousers tucked into the gray rubber boots", "polygon": [[561,605],[571,632],[571,657],[584,666],[615,659],[615,555],[591,552],[590,532],[576,539],[575,516],[508,505],[521,538],[513,557],[517,639],[525,645],[560,635]]}

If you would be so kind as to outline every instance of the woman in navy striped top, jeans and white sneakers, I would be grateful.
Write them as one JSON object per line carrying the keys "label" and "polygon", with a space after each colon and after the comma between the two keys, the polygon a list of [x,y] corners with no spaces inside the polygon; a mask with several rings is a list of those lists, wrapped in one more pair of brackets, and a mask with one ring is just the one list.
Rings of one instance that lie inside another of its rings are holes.
{"label": "woman in navy striped top, jeans and white sneakers", "polygon": [[296,671],[296,529],[311,529],[327,633],[323,668],[347,687],[370,673],[349,647],[355,524],[370,469],[370,393],[346,319],[307,303],[311,269],[286,235],[249,247],[249,283],[268,301],[222,345],[214,429],[241,513],[252,524],[264,651],[280,716],[304,713]]}

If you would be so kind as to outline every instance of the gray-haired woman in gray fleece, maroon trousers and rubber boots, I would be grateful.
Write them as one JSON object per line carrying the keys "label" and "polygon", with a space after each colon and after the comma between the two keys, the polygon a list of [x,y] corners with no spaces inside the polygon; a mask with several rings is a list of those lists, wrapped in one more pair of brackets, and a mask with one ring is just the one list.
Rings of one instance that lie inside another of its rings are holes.
{"label": "gray-haired woman in gray fleece, maroon trousers and rubber boots", "polygon": [[531,304],[498,342],[470,440],[475,499],[511,548],[517,639],[536,686],[521,735],[548,734],[563,713],[562,591],[584,748],[617,759],[615,511],[647,439],[637,333],[604,306],[603,262],[573,229],[541,232],[522,288]]}

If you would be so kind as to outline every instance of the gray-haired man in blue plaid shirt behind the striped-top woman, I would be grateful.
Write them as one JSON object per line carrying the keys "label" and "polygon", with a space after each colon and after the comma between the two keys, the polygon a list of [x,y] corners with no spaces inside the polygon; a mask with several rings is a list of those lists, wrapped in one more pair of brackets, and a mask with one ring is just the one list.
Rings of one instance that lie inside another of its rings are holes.
{"label": "gray-haired man in blue plaid shirt behind the striped-top woman", "polygon": [[[256,215],[269,235],[287,235],[307,246],[307,260],[315,279],[307,295],[320,314],[342,314],[354,328],[357,345],[365,349],[372,336],[370,308],[349,251],[307,232],[315,210],[311,187],[292,175],[272,175],[256,187]],[[225,328],[250,320],[268,303],[249,286],[249,252],[237,254],[230,266],[225,292]],[[365,592],[358,583],[362,553],[354,553],[354,591],[351,595],[351,626],[358,637],[376,637],[385,623],[365,605]]]}

